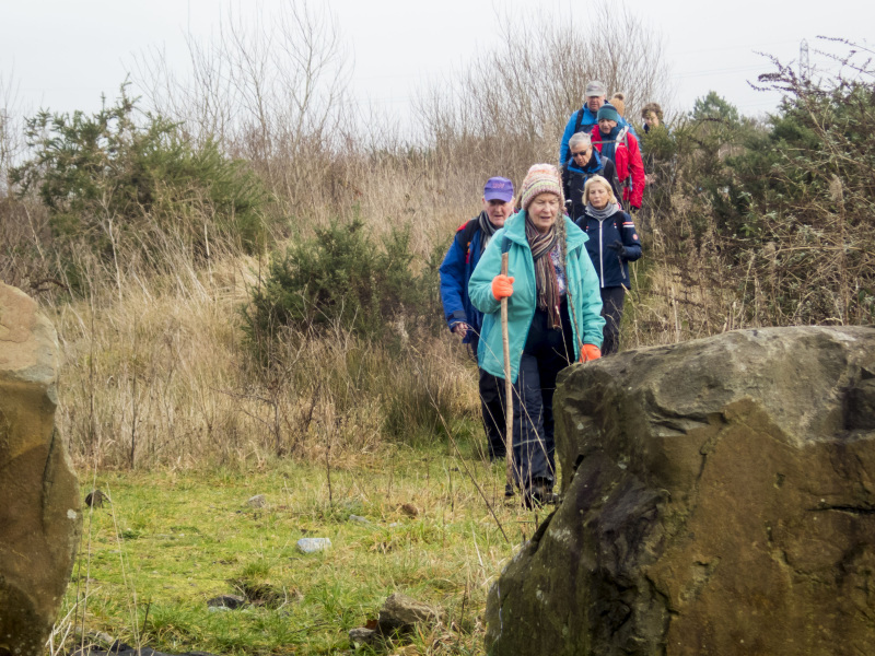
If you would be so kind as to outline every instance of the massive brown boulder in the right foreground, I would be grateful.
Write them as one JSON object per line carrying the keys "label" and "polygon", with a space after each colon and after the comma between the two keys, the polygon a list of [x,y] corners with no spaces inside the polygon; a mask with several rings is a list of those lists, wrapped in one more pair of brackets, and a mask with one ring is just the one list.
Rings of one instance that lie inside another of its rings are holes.
{"label": "massive brown boulder in the right foreground", "polygon": [[573,366],[563,500],[492,586],[490,654],[872,654],[875,328]]}

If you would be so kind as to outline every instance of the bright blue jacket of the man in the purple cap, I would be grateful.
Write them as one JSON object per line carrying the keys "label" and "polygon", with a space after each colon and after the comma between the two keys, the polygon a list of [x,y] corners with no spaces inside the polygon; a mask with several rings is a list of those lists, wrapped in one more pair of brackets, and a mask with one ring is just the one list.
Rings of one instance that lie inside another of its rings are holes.
{"label": "bright blue jacket of the man in the purple cap", "polygon": [[[488,220],[488,219],[487,219]],[[456,231],[456,236],[444,256],[439,269],[441,274],[441,303],[444,306],[444,318],[450,329],[459,321],[474,328],[463,339],[463,343],[472,341],[479,335],[483,323],[483,313],[471,305],[468,297],[468,281],[471,279],[477,262],[480,261],[483,232],[480,230],[479,216],[475,216]]]}

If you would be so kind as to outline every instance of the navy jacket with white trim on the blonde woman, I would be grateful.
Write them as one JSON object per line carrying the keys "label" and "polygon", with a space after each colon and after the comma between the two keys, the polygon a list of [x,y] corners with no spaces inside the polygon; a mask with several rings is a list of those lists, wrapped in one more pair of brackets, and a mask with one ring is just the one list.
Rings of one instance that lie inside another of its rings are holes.
{"label": "navy jacket with white trim on the blonde woman", "polygon": [[[599,284],[603,288],[623,285],[631,289],[629,262],[641,257],[641,239],[638,238],[632,218],[618,211],[599,221],[584,212],[578,220],[578,225],[590,237],[586,250],[593,260]],[[622,243],[622,251],[610,248],[616,242]]]}

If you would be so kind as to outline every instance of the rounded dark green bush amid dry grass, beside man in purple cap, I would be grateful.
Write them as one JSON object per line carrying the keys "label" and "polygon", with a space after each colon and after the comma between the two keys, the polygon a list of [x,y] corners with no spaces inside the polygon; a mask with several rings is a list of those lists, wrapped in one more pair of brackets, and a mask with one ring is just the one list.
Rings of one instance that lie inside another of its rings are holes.
{"label": "rounded dark green bush amid dry grass, beside man in purple cap", "polygon": [[358,219],[317,229],[275,254],[244,313],[246,333],[261,355],[283,326],[342,328],[365,339],[395,335],[387,328],[393,321],[428,313],[430,281],[413,272],[412,260],[409,231],[393,231],[376,244]]}

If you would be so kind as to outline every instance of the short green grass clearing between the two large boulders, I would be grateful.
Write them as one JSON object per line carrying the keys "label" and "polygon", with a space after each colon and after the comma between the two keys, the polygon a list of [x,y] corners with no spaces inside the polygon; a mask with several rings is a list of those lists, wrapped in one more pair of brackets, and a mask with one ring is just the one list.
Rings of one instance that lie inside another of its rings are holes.
{"label": "short green grass clearing between the two large boulders", "polygon": [[[66,610],[80,599],[79,625],[84,607],[86,630],[165,652],[331,654],[350,653],[347,632],[402,591],[447,618],[402,653],[480,654],[489,585],[532,535],[536,515],[505,504],[503,467],[477,458],[472,442],[462,449],[464,459],[444,442],[345,456],[332,464],[330,502],[324,459],[98,473],[113,502],[86,508]],[[247,507],[255,494],[268,506]],[[352,514],[371,524],[351,522]],[[302,537],[327,537],[332,547],[303,554]],[[207,600],[222,594],[254,601],[210,610]]]}

